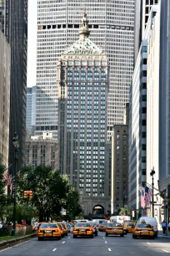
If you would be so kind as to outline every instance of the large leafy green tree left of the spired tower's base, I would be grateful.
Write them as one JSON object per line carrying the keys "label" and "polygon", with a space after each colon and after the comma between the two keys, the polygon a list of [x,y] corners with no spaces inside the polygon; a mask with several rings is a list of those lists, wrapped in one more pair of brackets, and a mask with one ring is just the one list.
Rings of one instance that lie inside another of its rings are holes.
{"label": "large leafy green tree left of the spired tower's base", "polygon": [[52,171],[50,166],[24,167],[18,179],[18,203],[27,202],[23,192],[31,190],[32,207],[39,221],[60,216],[62,207],[67,214],[75,216],[81,212],[78,192],[67,176]]}

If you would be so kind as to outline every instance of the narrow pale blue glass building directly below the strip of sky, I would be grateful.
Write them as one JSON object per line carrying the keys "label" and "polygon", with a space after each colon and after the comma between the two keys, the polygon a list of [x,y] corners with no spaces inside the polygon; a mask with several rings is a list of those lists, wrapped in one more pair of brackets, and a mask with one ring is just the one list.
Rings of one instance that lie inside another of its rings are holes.
{"label": "narrow pale blue glass building directly below the strip of sky", "polygon": [[27,113],[26,126],[29,134],[34,134],[35,129],[35,105],[36,105],[36,86],[27,88]]}

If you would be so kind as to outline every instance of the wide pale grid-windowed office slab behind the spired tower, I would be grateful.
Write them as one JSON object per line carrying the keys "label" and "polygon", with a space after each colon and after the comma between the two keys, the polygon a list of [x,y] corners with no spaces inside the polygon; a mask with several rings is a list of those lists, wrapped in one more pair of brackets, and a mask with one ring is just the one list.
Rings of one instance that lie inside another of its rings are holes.
{"label": "wide pale grid-windowed office slab behind the spired tower", "polygon": [[108,134],[122,124],[133,74],[134,0],[37,1],[37,110],[36,133],[56,131],[57,59],[78,39],[82,8],[86,7],[91,38],[107,53],[110,64]]}

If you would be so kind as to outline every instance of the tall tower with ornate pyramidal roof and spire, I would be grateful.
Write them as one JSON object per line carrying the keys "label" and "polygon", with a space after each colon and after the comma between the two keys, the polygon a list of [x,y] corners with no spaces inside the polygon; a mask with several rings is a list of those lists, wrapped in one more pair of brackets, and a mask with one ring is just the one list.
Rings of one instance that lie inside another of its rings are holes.
{"label": "tall tower with ornate pyramidal roof and spire", "polygon": [[87,213],[92,212],[90,203],[95,206],[108,190],[104,170],[107,54],[93,44],[88,34],[84,12],[79,40],[57,62],[59,170],[88,197],[83,202]]}

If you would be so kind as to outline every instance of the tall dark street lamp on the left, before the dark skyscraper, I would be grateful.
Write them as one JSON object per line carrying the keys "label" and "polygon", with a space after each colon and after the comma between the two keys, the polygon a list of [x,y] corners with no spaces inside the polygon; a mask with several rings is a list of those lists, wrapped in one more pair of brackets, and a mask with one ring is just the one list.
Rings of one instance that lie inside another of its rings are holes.
{"label": "tall dark street lamp on the left, before the dark skyscraper", "polygon": [[13,206],[13,231],[12,236],[16,235],[16,205],[17,205],[17,161],[18,161],[18,148],[19,148],[19,140],[18,135],[15,132],[13,137],[13,146],[15,151],[15,170],[14,170],[14,178],[15,178],[15,190],[14,190],[14,206]]}

